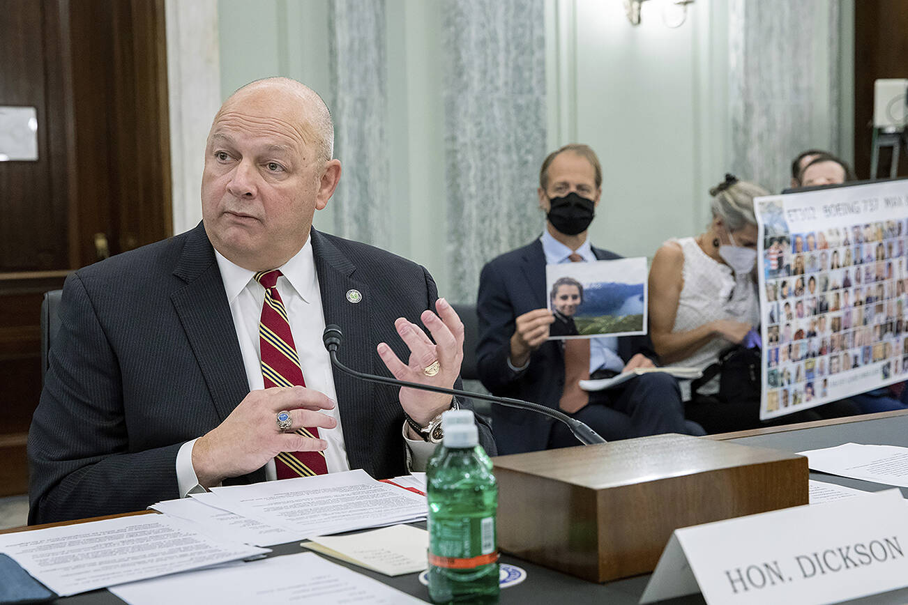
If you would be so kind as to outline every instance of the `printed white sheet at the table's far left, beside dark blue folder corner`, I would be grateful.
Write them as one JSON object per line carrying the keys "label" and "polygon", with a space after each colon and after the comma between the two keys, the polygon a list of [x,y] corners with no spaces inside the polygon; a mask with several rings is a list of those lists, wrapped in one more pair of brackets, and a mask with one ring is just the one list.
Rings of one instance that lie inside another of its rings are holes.
{"label": "printed white sheet at the table's far left, beside dark blue folder corner", "polygon": [[0,552],[61,596],[270,552],[143,514],[0,535]]}

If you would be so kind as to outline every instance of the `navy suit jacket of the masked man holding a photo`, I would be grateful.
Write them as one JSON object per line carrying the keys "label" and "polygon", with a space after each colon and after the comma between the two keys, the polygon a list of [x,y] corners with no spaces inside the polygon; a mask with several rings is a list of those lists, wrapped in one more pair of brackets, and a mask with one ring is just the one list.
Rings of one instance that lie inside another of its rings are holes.
{"label": "navy suit jacket of the masked man holding a photo", "polygon": [[[621,258],[604,249],[593,248],[593,254],[600,260]],[[560,341],[548,340],[539,346],[521,372],[508,366],[517,317],[546,306],[546,255],[541,241],[490,260],[479,277],[477,370],[482,384],[494,395],[558,409],[565,383]],[[636,353],[655,357],[646,337],[619,337],[617,353],[625,363]],[[553,422],[548,416],[493,405],[492,430],[498,454],[545,449]]]}

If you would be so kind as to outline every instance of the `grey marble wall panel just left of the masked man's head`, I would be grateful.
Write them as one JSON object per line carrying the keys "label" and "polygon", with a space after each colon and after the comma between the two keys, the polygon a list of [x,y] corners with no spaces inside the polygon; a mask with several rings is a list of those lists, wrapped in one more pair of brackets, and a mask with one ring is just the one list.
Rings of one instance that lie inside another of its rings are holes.
{"label": "grey marble wall panel just left of the masked man's head", "polygon": [[445,0],[443,13],[449,292],[473,301],[483,264],[540,232],[544,3]]}

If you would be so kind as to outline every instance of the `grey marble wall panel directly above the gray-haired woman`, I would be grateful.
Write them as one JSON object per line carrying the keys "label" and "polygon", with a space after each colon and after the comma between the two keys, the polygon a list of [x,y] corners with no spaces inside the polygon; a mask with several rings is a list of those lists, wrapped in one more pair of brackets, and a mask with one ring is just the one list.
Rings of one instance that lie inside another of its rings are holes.
{"label": "grey marble wall panel directly above the gray-haired woman", "polygon": [[840,18],[835,2],[731,0],[730,166],[738,178],[778,192],[800,151],[838,152]]}

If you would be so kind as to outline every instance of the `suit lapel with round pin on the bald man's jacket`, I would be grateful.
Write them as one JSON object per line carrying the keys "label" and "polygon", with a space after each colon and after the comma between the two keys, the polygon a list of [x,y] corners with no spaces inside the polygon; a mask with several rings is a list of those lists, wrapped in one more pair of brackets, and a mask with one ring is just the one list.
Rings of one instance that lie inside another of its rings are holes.
{"label": "suit lapel with round pin on the bald man's jacket", "polygon": [[[319,231],[311,230],[312,256],[319,276],[321,309],[325,325],[336,324],[343,332],[343,344],[338,358],[344,366],[360,372],[374,373],[375,351],[371,348],[370,319],[374,317],[375,301],[368,284],[353,278],[356,266]],[[351,302],[350,291],[360,293],[359,302]],[[370,406],[374,399],[371,383],[351,378],[337,368],[332,370],[334,389],[341,414],[344,445],[350,468],[362,468],[375,475],[369,455],[370,438],[374,438],[374,416]]]}

